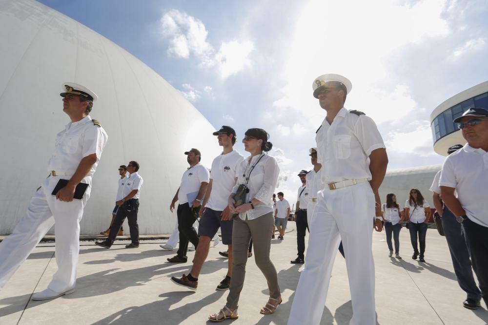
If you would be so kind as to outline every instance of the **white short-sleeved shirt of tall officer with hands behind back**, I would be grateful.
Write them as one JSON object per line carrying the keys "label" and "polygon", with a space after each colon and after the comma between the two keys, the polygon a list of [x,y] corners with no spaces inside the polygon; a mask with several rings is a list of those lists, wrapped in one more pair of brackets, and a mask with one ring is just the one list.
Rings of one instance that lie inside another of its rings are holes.
{"label": "white short-sleeved shirt of tall officer with hands behind back", "polygon": [[324,183],[346,179],[371,180],[368,157],[374,150],[385,148],[374,121],[366,115],[350,113],[344,107],[332,124],[324,118],[315,140],[317,162],[322,164]]}

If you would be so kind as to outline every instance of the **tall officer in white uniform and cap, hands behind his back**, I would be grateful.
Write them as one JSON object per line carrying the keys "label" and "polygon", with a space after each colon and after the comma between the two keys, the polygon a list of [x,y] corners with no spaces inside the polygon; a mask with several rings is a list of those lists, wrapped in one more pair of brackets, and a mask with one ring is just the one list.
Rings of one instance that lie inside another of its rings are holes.
{"label": "tall officer in white uniform and cap, hands behind his back", "polygon": [[320,324],[341,238],[352,300],[349,324],[376,324],[371,228],[374,220],[376,230],[382,229],[378,188],[388,158],[373,120],[364,113],[344,108],[351,88],[351,82],[340,75],[319,76],[313,82],[313,95],[326,111],[316,136],[325,188],[317,194],[306,267],[300,276],[288,324]]}

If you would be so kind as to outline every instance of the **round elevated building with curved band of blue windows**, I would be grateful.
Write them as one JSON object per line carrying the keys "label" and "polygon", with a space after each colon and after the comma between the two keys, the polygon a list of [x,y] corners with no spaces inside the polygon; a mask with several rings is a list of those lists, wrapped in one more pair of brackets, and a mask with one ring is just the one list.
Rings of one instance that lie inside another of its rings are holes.
{"label": "round elevated building with curved band of blue windows", "polygon": [[488,109],[488,81],[450,97],[430,114],[430,127],[436,153],[446,156],[447,148],[450,146],[466,143],[458,126],[452,120],[461,116],[470,107]]}

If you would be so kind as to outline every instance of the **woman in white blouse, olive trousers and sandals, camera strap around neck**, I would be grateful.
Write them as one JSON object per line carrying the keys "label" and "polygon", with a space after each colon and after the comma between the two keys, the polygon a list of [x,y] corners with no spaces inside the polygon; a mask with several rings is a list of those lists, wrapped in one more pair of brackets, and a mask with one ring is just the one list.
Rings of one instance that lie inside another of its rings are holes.
{"label": "woman in white blouse, olive trousers and sandals, camera strap around neck", "polygon": [[[268,134],[263,129],[249,129],[245,132],[244,150],[251,155],[242,162],[236,186],[228,199],[230,212],[238,214],[234,218],[232,228],[233,267],[229,295],[224,308],[208,317],[212,322],[238,318],[237,307],[244,286],[247,249],[251,237],[256,265],[266,278],[270,296],[260,312],[272,314],[282,302],[278,274],[269,258],[274,227],[271,197],[276,188],[280,168],[273,157],[263,153],[271,150],[273,146],[267,139]],[[242,184],[245,184],[248,189],[244,201],[246,203],[236,207],[234,196]]]}

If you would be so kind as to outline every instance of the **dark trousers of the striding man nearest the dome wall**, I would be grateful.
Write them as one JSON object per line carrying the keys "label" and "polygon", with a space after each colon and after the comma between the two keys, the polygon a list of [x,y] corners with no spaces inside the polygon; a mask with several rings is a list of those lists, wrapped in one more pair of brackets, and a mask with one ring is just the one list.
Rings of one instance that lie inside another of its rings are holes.
{"label": "dark trousers of the striding man nearest the dome wall", "polygon": [[124,202],[117,210],[115,215],[114,223],[110,228],[110,233],[108,235],[107,241],[110,244],[114,243],[115,237],[119,229],[121,229],[122,223],[127,218],[130,231],[130,241],[132,244],[139,245],[139,225],[137,224],[137,212],[139,211],[139,199],[130,199]]}

